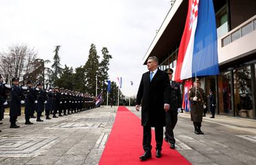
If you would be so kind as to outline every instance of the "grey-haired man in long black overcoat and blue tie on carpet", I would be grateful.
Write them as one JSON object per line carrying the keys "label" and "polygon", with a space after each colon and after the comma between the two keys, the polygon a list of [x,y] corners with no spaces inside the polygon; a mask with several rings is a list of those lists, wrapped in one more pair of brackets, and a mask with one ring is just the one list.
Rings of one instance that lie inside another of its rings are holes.
{"label": "grey-haired man in long black overcoat and blue tie on carpet", "polygon": [[148,57],[149,72],[142,75],[137,93],[136,110],[142,104],[143,150],[145,153],[140,160],[151,158],[151,127],[155,127],[156,158],[161,157],[163,145],[163,127],[165,126],[164,113],[169,110],[170,83],[168,74],[158,69],[158,59]]}

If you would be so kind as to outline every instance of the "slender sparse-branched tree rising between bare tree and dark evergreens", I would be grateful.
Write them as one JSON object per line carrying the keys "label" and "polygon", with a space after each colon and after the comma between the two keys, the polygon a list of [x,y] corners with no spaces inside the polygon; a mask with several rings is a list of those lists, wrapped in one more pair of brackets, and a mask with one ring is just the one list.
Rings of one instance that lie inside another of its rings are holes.
{"label": "slender sparse-branched tree rising between bare tree and dark evergreens", "polygon": [[53,68],[53,82],[58,79],[59,75],[61,74],[62,68],[61,68],[61,59],[59,57],[59,49],[61,48],[61,45],[55,46],[54,49],[54,57],[53,57],[53,65],[51,66]]}

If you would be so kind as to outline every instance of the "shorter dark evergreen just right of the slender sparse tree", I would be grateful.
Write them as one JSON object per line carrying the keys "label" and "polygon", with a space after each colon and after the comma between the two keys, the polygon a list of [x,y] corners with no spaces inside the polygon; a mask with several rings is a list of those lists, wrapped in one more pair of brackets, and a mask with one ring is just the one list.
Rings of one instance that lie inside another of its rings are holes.
{"label": "shorter dark evergreen just right of the slender sparse tree", "polygon": [[62,70],[61,77],[56,80],[55,85],[65,89],[74,90],[73,80],[75,80],[73,68],[69,68],[65,65],[64,69]]}

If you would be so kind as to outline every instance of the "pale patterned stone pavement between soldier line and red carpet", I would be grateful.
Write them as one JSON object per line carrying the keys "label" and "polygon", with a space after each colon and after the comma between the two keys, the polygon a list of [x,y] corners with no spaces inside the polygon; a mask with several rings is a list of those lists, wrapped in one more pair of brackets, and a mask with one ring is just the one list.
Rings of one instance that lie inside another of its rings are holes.
{"label": "pale patterned stone pavement between soldier line and red carpet", "polygon": [[98,164],[113,126],[116,107],[96,108],[69,116],[9,128],[0,125],[0,164]]}

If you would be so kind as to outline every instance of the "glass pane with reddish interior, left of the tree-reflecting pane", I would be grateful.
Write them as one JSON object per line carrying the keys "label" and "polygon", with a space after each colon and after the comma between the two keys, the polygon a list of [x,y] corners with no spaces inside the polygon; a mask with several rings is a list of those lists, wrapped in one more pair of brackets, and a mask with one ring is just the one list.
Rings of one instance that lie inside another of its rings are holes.
{"label": "glass pane with reddish interior, left of the tree-reflecting pane", "polygon": [[221,72],[221,74],[218,75],[218,103],[220,114],[233,116],[231,100],[231,72]]}

